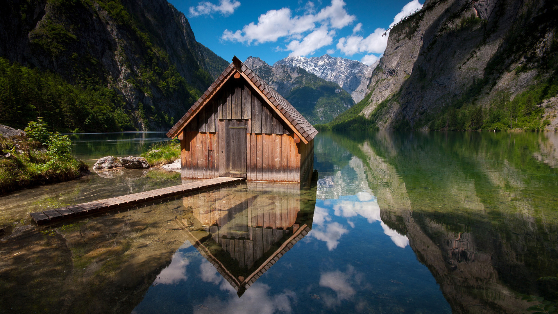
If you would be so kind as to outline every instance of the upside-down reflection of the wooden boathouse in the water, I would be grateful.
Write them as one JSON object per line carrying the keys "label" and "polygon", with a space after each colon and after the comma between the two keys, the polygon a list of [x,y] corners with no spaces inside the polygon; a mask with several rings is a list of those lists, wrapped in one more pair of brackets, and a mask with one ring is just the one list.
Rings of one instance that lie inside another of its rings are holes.
{"label": "upside-down reflection of the wooden boathouse in the water", "polygon": [[[190,242],[242,296],[312,226],[315,189],[249,182],[184,198]],[[302,199],[302,202],[301,202]]]}

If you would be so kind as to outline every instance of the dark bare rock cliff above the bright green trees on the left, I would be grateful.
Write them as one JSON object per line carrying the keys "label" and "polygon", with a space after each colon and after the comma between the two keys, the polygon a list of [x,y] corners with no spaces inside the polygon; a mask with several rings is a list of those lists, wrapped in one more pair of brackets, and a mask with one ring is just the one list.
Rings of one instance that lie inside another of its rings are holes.
{"label": "dark bare rock cliff above the bright green trees on the left", "polygon": [[165,130],[228,65],[165,0],[0,1],[0,56],[112,89],[140,130]]}

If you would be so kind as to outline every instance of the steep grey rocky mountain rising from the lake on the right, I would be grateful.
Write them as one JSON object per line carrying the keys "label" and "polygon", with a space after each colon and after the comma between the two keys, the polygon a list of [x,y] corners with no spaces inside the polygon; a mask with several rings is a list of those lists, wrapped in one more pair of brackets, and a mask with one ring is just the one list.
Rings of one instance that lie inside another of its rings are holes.
{"label": "steep grey rocky mountain rising from the lake on the right", "polygon": [[556,130],[558,3],[427,0],[326,129]]}

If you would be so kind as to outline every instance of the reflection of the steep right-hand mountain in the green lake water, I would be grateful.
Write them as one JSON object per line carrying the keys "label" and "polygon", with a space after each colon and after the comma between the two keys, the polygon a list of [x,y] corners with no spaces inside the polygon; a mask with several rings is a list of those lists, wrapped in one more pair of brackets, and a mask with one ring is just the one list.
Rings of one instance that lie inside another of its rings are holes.
{"label": "reflection of the steep right-hand mountain in the green lake water", "polygon": [[454,312],[522,313],[516,293],[555,291],[537,280],[558,265],[556,177],[536,160],[556,162],[552,139],[456,136],[336,140],[362,158],[382,221],[407,235]]}

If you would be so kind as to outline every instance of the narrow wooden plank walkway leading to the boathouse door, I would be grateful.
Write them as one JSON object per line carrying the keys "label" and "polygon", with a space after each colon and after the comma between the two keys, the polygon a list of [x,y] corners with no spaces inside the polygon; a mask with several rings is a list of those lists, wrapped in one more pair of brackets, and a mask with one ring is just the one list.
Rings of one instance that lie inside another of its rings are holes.
{"label": "narrow wooden plank walkway leading to the boathouse door", "polygon": [[236,183],[244,180],[246,180],[246,178],[229,177],[201,180],[198,182],[175,185],[174,187],[161,188],[152,191],[128,194],[107,199],[99,199],[98,201],[89,203],[56,208],[55,210],[47,210],[44,212],[31,213],[31,217],[38,225],[44,225],[48,222],[63,220],[78,215],[87,215],[104,210],[113,210],[116,208],[133,206],[140,203],[154,201],[155,199],[195,192],[206,188],[216,187],[218,185]]}

